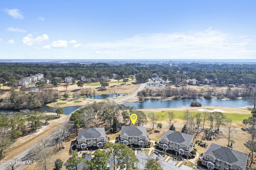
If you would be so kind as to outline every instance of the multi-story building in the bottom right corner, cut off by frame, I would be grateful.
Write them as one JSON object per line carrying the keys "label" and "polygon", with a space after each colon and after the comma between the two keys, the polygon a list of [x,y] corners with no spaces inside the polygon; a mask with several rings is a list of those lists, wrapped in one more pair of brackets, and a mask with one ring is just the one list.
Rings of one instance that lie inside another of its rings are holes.
{"label": "multi-story building in the bottom right corner, cut off by frame", "polygon": [[202,165],[208,169],[246,170],[248,154],[211,143],[202,156]]}

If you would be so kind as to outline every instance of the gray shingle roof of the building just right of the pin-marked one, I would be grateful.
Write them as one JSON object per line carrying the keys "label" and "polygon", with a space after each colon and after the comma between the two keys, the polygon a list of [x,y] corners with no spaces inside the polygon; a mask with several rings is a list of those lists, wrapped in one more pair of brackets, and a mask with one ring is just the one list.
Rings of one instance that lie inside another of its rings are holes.
{"label": "gray shingle roof of the building just right of the pin-marked one", "polygon": [[192,142],[193,138],[194,136],[191,134],[177,132],[174,130],[167,130],[160,140],[166,139],[170,142],[175,142],[178,144],[185,144],[186,146],[190,146],[190,143]]}

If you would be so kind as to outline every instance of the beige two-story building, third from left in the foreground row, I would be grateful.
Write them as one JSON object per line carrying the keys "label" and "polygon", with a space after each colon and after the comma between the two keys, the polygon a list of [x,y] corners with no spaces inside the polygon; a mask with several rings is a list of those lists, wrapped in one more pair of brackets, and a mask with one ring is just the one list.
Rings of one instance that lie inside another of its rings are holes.
{"label": "beige two-story building, third from left in the foreground row", "polygon": [[174,130],[167,130],[158,142],[163,150],[175,150],[179,155],[189,155],[193,148],[194,136]]}

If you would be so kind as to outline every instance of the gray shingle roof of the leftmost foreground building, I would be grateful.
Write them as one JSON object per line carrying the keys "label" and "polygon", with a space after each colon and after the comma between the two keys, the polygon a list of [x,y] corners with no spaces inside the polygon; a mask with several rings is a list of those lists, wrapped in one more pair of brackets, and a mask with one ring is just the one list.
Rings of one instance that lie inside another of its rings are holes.
{"label": "gray shingle roof of the leftmost foreground building", "polygon": [[91,138],[99,138],[104,137],[106,138],[105,128],[83,128],[80,129],[78,132],[77,139],[84,138],[84,139],[91,139]]}

